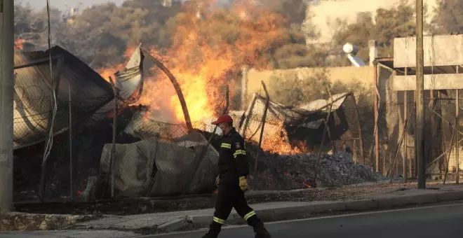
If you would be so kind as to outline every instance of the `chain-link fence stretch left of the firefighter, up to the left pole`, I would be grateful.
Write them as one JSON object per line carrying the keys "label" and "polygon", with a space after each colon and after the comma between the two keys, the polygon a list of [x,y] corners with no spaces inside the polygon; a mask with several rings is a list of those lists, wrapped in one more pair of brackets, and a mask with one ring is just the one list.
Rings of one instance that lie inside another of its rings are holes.
{"label": "chain-link fence stretch left of the firefighter, up to the left pole", "polygon": [[[39,108],[42,113],[32,116],[16,115],[14,119],[15,134],[27,135],[29,130],[29,133],[34,133],[34,138],[40,139],[39,142],[34,141],[32,146],[25,145],[14,151],[15,202],[88,201],[112,196],[124,197],[128,194],[142,197],[206,193],[210,192],[215,184],[215,176],[210,173],[216,173],[217,165],[211,158],[217,157],[218,154],[215,155],[217,151],[212,149],[212,146],[206,146],[210,134],[206,132],[212,132],[214,129],[208,121],[192,123],[196,133],[189,132],[184,123],[164,123],[152,119],[147,106],[119,104],[114,124],[112,109],[107,110],[105,115],[95,116],[92,112],[79,111],[81,102],[71,101],[69,104],[69,100],[65,99],[57,101],[58,110],[53,117],[51,99],[38,100],[41,106],[32,106],[32,109]],[[27,111],[22,104],[32,104],[32,101],[17,99],[15,111]],[[218,111],[223,111],[224,102],[225,100],[217,105],[216,116],[220,115]],[[232,104],[235,106],[236,102]],[[50,130],[46,125],[51,124],[51,118],[55,121],[55,133],[51,141],[53,146],[47,156],[47,162],[43,163]],[[43,126],[39,127],[40,133],[28,127],[29,122],[37,120],[43,122]],[[72,132],[69,132],[71,124]],[[107,168],[112,158],[114,127],[114,161],[119,168],[114,173],[116,193],[111,190],[112,178],[110,169]],[[15,141],[21,138],[15,137]],[[189,176],[184,176],[185,174]],[[173,190],[155,189],[160,188],[158,183],[162,183],[159,180],[162,178],[163,183],[169,184],[180,184],[180,181],[175,182],[176,178],[187,180],[181,181],[183,185]],[[149,189],[150,186],[153,189]]]}

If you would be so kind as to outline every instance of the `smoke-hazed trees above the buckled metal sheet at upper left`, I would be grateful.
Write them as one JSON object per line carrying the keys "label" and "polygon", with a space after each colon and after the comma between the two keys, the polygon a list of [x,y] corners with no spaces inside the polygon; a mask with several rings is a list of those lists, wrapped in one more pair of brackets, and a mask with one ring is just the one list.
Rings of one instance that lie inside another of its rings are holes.
{"label": "smoke-hazed trees above the buckled metal sheet at upper left", "polygon": [[[181,3],[166,8],[161,1],[130,0],[123,6],[103,3],[84,9],[72,19],[51,10],[51,39],[94,69],[122,64],[126,49],[143,42],[145,46],[170,45],[168,22]],[[46,48],[48,23],[46,9],[33,11],[28,5],[15,5],[15,36]]]}

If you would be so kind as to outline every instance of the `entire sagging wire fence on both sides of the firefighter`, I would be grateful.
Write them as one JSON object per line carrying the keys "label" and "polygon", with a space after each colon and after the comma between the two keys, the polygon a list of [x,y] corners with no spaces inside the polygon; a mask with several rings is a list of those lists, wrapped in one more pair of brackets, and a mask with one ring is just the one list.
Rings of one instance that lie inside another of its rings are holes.
{"label": "entire sagging wire fence on both sides of the firefighter", "polygon": [[[216,106],[215,116],[223,113],[224,108],[227,107],[226,97],[224,95],[222,104]],[[107,98],[93,100],[103,105],[109,102]],[[27,108],[24,106],[25,102],[32,106]],[[32,130],[34,128],[41,129],[40,133],[34,134],[37,138],[41,137],[41,141],[35,142],[32,146],[16,148],[14,151],[15,202],[88,201],[114,196],[124,197],[127,194],[144,197],[206,193],[213,188],[215,178],[210,176],[210,173],[214,173],[216,166],[213,166],[213,162],[208,158],[213,156],[211,153],[214,152],[208,146],[204,146],[210,142],[213,147],[218,148],[217,138],[210,140],[211,132],[214,130],[210,122],[192,123],[194,129],[199,132],[192,135],[184,123],[164,123],[153,120],[147,106],[116,103],[119,109],[116,110],[116,120],[114,120],[111,107],[104,112],[105,115],[91,117],[95,112],[79,110],[82,102],[67,97],[57,97],[56,113],[53,113],[51,102],[50,97],[36,99],[29,97],[25,100],[24,97],[18,96],[15,99],[15,111],[29,113],[31,109],[40,109],[40,113],[15,117],[15,133],[27,135],[29,132],[35,133],[36,130]],[[255,110],[261,111],[260,108],[264,106],[262,102],[264,101],[256,102]],[[231,104],[231,108],[236,107],[234,105],[236,102]],[[271,107],[264,121],[262,113],[257,111],[248,111],[247,120],[246,113],[243,114],[242,111],[229,113],[234,117],[234,126],[240,130],[246,141],[254,144],[259,141],[262,123],[264,123],[262,148],[266,151],[302,153],[318,152],[318,148],[323,148],[324,151],[335,153],[340,150],[351,150],[358,162],[365,162],[361,125],[354,96],[346,94],[346,97],[342,98],[342,103],[329,106],[333,104],[336,102],[330,102],[308,115],[301,114],[300,109],[286,107],[283,110]],[[299,113],[302,117],[291,117],[291,113]],[[92,120],[92,118],[99,119]],[[292,124],[287,120],[288,118],[297,118],[297,120]],[[52,119],[54,134],[53,137],[49,137],[51,126],[48,125],[51,125]],[[29,123],[36,120],[43,123],[31,127]],[[305,131],[300,134],[298,132],[300,129],[296,128],[296,125],[304,123],[311,132]],[[324,139],[321,134],[324,134]],[[16,139],[20,141],[25,138]],[[113,139],[118,144],[114,147],[114,155],[127,161],[117,162],[111,159]],[[50,144],[47,146],[48,142]],[[133,144],[136,146],[128,146]],[[47,148],[50,148],[49,154],[46,153]],[[44,158],[46,162],[43,162]],[[163,164],[156,164],[153,158],[156,160],[170,158],[170,160],[163,160]],[[109,169],[113,166],[116,169]],[[169,169],[169,167],[184,169]],[[161,172],[163,172],[162,176],[159,175]],[[116,174],[116,179],[112,179],[112,174]],[[164,182],[168,181],[180,186],[171,186],[169,190],[153,191],[156,179],[161,177]],[[175,180],[176,178],[186,178],[186,180]],[[118,189],[116,194],[112,189],[114,184]]]}

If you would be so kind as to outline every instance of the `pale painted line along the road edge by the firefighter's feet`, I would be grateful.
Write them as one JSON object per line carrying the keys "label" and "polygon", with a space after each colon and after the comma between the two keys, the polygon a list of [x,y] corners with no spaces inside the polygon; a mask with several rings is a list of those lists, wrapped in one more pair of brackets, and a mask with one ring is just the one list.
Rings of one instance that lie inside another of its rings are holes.
{"label": "pale painted line along the road edge by the firefighter's feet", "polygon": [[[334,216],[321,216],[321,217],[315,217],[315,218],[303,218],[303,219],[295,219],[295,220],[285,220],[285,221],[273,221],[273,222],[268,222],[265,223],[265,225],[271,225],[271,224],[281,224],[281,223],[293,223],[297,221],[314,221],[314,220],[322,220],[322,219],[331,219],[331,218],[342,218],[342,217],[350,217],[350,216],[363,216],[363,215],[369,215],[369,214],[386,214],[386,213],[391,213],[391,212],[396,212],[396,211],[412,211],[412,210],[422,210],[422,209],[435,209],[435,208],[441,208],[441,207],[457,207],[457,206],[463,206],[463,200],[458,200],[455,201],[456,203],[453,204],[442,204],[442,205],[434,205],[434,206],[425,206],[425,207],[411,207],[411,208],[405,208],[405,209],[390,209],[386,211],[365,211],[365,212],[359,212],[356,214],[342,214],[342,215],[334,215]],[[222,230],[225,229],[237,229],[237,228],[243,228],[243,227],[248,227],[248,225],[226,225],[222,227]],[[157,235],[142,235],[139,237],[130,237],[130,238],[147,238],[147,237],[163,237],[163,236],[168,236],[168,235],[181,235],[181,234],[194,234],[194,233],[199,233],[199,232],[204,232],[208,230],[208,228],[201,228],[199,230],[190,230],[190,231],[184,231],[184,232],[170,232],[170,233],[164,233],[164,234],[157,234]]]}

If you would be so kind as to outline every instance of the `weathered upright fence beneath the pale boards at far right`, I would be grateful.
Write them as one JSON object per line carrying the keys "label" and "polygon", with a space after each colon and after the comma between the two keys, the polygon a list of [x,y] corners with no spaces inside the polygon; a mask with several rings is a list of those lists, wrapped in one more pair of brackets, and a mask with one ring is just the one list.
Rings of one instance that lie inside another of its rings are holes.
{"label": "weathered upright fence beneath the pale boards at far right", "polygon": [[[380,119],[384,120],[377,124],[380,156],[373,164],[377,164],[377,171],[384,175],[416,178],[415,91],[384,91],[386,102],[379,111]],[[457,167],[462,169],[459,162],[462,93],[462,90],[424,91],[424,155],[428,179],[456,179]]]}

